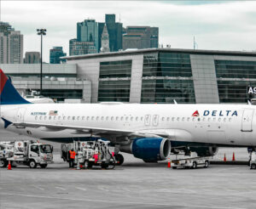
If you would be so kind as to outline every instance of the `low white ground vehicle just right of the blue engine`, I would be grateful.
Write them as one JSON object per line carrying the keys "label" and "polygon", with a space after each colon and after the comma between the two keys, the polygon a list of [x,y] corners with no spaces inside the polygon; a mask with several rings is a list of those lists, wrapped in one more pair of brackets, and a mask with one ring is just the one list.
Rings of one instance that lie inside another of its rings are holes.
{"label": "low white ground vehicle just right of the blue engine", "polygon": [[200,157],[195,152],[191,152],[190,155],[183,155],[183,158],[172,160],[172,169],[180,168],[197,168],[197,167],[209,167],[210,157]]}

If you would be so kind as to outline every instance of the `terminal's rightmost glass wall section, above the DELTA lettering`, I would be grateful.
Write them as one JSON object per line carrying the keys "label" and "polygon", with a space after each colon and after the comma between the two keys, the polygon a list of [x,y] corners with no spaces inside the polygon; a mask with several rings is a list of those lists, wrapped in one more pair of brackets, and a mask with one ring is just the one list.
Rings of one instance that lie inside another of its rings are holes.
{"label": "terminal's rightmost glass wall section, above the DELTA lettering", "polygon": [[252,94],[249,86],[256,86],[256,62],[240,60],[214,60],[220,103],[247,103]]}

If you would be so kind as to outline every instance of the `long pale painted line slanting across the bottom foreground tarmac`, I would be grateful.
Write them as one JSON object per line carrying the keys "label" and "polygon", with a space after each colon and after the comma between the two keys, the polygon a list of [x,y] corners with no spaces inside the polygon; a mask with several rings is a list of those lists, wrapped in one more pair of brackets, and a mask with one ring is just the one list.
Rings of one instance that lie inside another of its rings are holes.
{"label": "long pale painted line slanting across the bottom foreground tarmac", "polygon": [[12,195],[12,196],[21,196],[21,197],[32,197],[32,198],[45,198],[45,199],[56,199],[63,201],[92,201],[92,202],[105,202],[113,204],[127,204],[127,205],[149,205],[149,206],[186,206],[186,207],[195,207],[195,208],[212,208],[212,209],[246,209],[245,207],[230,207],[230,206],[193,206],[193,205],[177,205],[170,202],[167,203],[154,203],[154,202],[134,202],[134,201],[106,201],[106,200],[93,200],[93,199],[79,199],[79,198],[68,198],[68,197],[57,197],[57,196],[42,196],[42,195],[22,195],[14,193],[0,193],[0,195]]}

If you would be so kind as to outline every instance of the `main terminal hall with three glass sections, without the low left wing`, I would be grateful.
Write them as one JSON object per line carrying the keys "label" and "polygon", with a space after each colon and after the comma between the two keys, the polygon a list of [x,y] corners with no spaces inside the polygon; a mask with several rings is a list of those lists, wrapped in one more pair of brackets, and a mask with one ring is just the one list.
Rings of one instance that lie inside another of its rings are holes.
{"label": "main terminal hall with three glass sections, without the low left wing", "polygon": [[256,53],[150,48],[66,57],[91,82],[91,102],[239,103],[253,98]]}

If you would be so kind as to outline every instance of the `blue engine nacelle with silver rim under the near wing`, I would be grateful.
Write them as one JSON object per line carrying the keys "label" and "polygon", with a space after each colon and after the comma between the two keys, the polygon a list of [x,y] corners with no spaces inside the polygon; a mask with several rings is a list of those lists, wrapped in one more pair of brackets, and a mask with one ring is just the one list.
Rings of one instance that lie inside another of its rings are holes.
{"label": "blue engine nacelle with silver rim under the near wing", "polygon": [[121,145],[119,150],[143,161],[164,161],[170,154],[171,143],[167,138],[137,138],[131,144]]}

